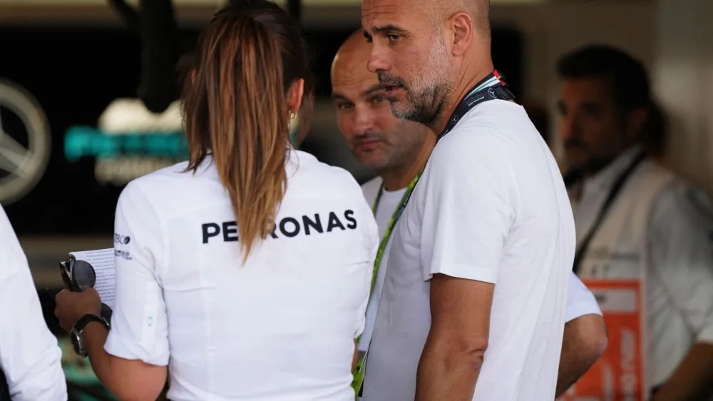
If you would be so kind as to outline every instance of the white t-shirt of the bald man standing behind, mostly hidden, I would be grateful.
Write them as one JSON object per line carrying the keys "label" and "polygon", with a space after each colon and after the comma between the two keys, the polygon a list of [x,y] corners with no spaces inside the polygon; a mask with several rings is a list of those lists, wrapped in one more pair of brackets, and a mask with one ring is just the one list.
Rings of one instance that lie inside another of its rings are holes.
{"label": "white t-shirt of the bald man standing behind, mostly hidden", "polygon": [[[379,189],[381,188],[382,182],[380,177],[376,177],[361,186],[361,191],[364,192],[364,198],[366,198],[366,202],[368,202],[369,205],[372,205],[372,208],[374,203],[376,203],[376,197],[379,196]],[[404,193],[406,193],[406,188],[401,188],[397,191],[384,190],[381,193],[379,207],[376,208],[376,213],[374,214],[376,224],[379,225],[379,238],[384,238],[386,227],[389,225],[391,216],[394,215],[396,208],[399,207]],[[376,320],[376,313],[379,311],[379,296],[381,295],[381,289],[384,288],[386,261],[389,260],[389,250],[391,249],[393,238],[394,235],[392,234],[391,238],[389,238],[389,243],[387,243],[386,248],[384,248],[384,255],[381,257],[381,266],[379,266],[379,271],[376,274],[374,293],[371,298],[369,298],[369,306],[366,307],[366,325],[364,326],[364,333],[361,334],[361,339],[359,340],[359,350],[361,351],[366,351],[366,346],[371,339],[371,333],[374,332],[374,321]],[[575,273],[571,273],[569,288],[567,290],[565,323],[584,315],[601,316],[602,310],[599,308],[599,304],[594,298],[593,293],[591,293]]]}

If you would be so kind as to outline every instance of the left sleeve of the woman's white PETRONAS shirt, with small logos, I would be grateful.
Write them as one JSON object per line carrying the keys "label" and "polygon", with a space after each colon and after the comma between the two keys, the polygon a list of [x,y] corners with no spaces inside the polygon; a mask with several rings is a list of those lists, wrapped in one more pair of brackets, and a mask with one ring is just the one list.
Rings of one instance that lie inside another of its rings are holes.
{"label": "left sleeve of the woman's white PETRONAS shirt, with small logos", "polygon": [[116,298],[104,345],[111,355],[168,365],[168,318],[157,274],[164,249],[153,204],[130,183],[119,197],[114,222]]}

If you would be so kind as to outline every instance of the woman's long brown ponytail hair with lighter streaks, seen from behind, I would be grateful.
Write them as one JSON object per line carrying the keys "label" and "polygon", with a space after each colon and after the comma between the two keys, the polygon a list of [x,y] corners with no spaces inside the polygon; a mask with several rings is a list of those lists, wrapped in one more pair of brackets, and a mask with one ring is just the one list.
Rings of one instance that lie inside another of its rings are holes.
{"label": "woman's long brown ponytail hair with lighter streaks, seen from behind", "polygon": [[[314,79],[297,24],[272,1],[242,0],[213,16],[185,78],[183,113],[196,171],[209,155],[230,196],[245,258],[275,228],[287,188],[287,94],[304,78],[303,134],[314,108]],[[245,260],[244,258],[244,260]]]}

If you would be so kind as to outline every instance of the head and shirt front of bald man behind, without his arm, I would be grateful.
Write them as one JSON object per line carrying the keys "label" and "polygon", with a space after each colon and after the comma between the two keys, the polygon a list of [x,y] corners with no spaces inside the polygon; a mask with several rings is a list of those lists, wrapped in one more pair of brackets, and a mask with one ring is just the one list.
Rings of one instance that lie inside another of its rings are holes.
{"label": "head and shirt front of bald man behind, without his arm", "polygon": [[347,146],[364,166],[379,177],[361,186],[379,224],[382,253],[375,265],[376,281],[366,309],[366,325],[359,350],[366,351],[374,329],[379,294],[384,284],[391,217],[409,183],[426,164],[436,136],[423,124],[391,115],[389,101],[376,74],[366,70],[369,44],[361,30],[344,42],[332,63],[332,100],[337,123]]}

